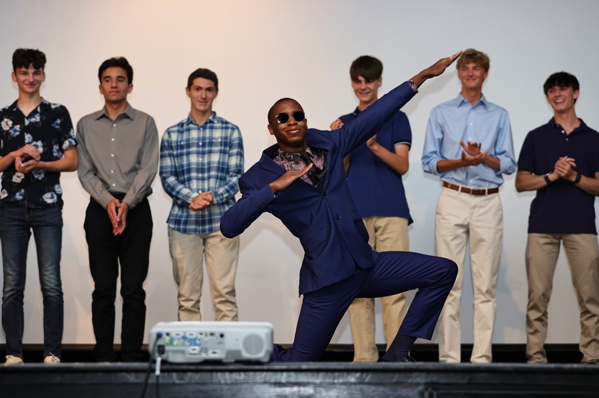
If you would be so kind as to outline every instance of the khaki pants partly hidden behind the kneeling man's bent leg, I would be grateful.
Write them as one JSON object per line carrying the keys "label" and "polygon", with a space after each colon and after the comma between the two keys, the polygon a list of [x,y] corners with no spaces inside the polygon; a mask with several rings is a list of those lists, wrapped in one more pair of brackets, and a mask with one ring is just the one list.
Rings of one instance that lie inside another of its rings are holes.
{"label": "khaki pants partly hidden behind the kneeling man's bent leg", "polygon": [[[373,216],[365,218],[364,225],[368,231],[368,244],[377,252],[410,250],[407,218]],[[383,304],[383,330],[387,348],[393,342],[406,316],[406,298],[407,293],[380,298]],[[376,362],[379,359],[379,350],[374,339],[374,299],[354,299],[348,313],[352,328],[353,361]]]}

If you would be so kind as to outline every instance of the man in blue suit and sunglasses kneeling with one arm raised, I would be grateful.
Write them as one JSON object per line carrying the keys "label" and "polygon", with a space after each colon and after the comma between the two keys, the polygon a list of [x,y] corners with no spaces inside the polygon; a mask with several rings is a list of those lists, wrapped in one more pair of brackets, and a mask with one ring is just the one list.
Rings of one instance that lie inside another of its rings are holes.
{"label": "man in blue suit and sunglasses kneeling with one arm raised", "polygon": [[304,297],[294,344],[287,349],[275,345],[271,360],[319,360],[353,299],[413,289],[418,292],[381,360],[411,360],[407,353],[416,338],[431,338],[457,267],[418,253],[374,252],[347,186],[343,158],[460,54],[438,60],[337,130],[308,130],[304,111],[293,99],[280,99],[268,112],[268,130],[277,144],[241,176],[243,197],[223,215],[220,230],[235,237],[269,212],[299,238],[305,251],[299,270]]}

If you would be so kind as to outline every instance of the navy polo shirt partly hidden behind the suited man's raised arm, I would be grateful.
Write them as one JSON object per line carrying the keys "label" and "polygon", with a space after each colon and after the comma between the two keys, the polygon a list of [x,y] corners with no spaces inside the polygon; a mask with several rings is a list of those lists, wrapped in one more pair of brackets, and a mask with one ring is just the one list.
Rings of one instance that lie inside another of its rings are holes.
{"label": "navy polo shirt partly hidden behind the suited man's raised arm", "polygon": [[[347,124],[359,113],[356,108],[340,119]],[[406,114],[398,111],[377,133],[376,141],[393,153],[395,145],[412,145],[412,130]],[[347,183],[360,216],[403,217],[412,224],[401,175],[380,160],[366,143],[350,152],[349,157]]]}

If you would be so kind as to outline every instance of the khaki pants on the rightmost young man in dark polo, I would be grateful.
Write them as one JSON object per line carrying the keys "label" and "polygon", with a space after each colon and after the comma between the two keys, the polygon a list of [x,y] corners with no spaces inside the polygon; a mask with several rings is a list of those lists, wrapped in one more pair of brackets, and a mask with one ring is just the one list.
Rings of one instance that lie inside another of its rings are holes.
{"label": "khaki pants on the rightmost young man in dark polo", "polygon": [[580,310],[582,362],[599,360],[599,247],[594,234],[528,234],[526,270],[528,307],[526,313],[529,363],[546,363],[543,348],[547,336],[547,305],[553,273],[564,243],[572,283]]}

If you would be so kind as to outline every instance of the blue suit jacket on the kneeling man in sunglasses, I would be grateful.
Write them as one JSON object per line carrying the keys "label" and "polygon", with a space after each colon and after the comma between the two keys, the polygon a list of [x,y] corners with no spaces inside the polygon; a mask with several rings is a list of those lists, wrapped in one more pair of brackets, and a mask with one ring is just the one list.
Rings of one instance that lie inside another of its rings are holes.
{"label": "blue suit jacket on the kneeling man in sunglasses", "polygon": [[269,184],[286,170],[273,161],[279,146],[266,149],[258,163],[239,179],[243,196],[223,215],[220,231],[232,238],[264,212],[279,218],[304,248],[304,261],[299,270],[300,295],[349,277],[356,264],[362,268],[372,267],[373,251],[368,245],[368,232],[347,186],[343,158],[379,131],[414,94],[410,85],[404,83],[338,130],[308,129],[308,145],[328,151],[322,192],[297,179],[273,195]]}

